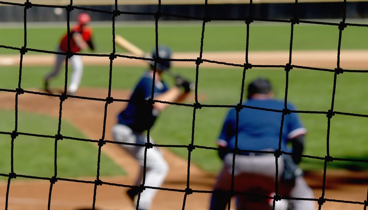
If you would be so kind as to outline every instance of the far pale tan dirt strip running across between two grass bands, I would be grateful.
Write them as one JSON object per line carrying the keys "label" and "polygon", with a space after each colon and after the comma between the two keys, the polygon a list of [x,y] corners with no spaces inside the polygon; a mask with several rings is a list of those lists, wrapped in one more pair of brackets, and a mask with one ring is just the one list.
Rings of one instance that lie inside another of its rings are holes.
{"label": "far pale tan dirt strip running across between two grass bands", "polygon": [[[131,54],[125,54],[131,55]],[[197,59],[198,53],[173,53],[174,59]],[[345,50],[340,53],[340,67],[343,69],[368,69],[368,51],[365,50]],[[203,59],[212,61],[227,62],[242,65],[245,63],[244,52],[204,52]],[[29,66],[53,65],[55,57],[52,54],[25,54],[23,64]],[[88,65],[109,65],[108,57],[83,56],[84,62]],[[285,65],[289,62],[289,52],[250,52],[249,63],[253,65]],[[19,66],[20,55],[1,55],[0,66]],[[118,57],[113,61],[114,65],[139,65],[147,64],[141,60]],[[309,66],[315,68],[337,67],[337,51],[294,51],[292,53],[292,64],[299,66]],[[173,66],[195,67],[194,61],[175,61]],[[204,62],[201,67],[226,68],[229,66]]]}

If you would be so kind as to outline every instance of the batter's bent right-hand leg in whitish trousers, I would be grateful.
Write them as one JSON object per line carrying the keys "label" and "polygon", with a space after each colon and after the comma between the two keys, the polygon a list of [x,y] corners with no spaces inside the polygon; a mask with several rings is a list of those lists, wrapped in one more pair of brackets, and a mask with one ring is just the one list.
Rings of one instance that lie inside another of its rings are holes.
{"label": "batter's bent right-hand leg in whitish trousers", "polygon": [[[139,136],[141,143],[146,143],[146,136]],[[150,138],[150,142],[154,143],[153,139]],[[142,147],[136,154],[138,162],[144,167],[146,163],[146,173],[144,176],[144,185],[151,187],[160,187],[165,180],[168,172],[168,164],[162,156],[162,153],[157,147],[147,149],[145,157],[145,148]],[[139,198],[139,209],[148,210],[151,207],[152,201],[157,193],[157,189],[145,188],[140,194]]]}

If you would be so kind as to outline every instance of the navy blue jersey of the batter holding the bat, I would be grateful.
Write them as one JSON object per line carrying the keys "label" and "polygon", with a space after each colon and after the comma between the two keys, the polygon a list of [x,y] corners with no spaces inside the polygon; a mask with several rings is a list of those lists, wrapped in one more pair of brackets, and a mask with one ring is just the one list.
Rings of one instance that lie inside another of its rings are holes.
{"label": "navy blue jersey of the batter holding the bat", "polygon": [[[158,116],[158,111],[152,104],[146,102],[152,95],[153,78],[150,72],[135,86],[127,107],[118,115],[118,123],[126,125],[135,132],[143,132],[150,129]],[[155,81],[154,97],[166,92],[167,85],[163,81]]]}

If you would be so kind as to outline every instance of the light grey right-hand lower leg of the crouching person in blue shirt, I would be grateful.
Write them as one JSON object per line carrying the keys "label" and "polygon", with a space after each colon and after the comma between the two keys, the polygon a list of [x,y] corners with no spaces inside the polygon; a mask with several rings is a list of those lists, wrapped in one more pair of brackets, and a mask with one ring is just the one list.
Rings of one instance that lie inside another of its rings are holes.
{"label": "light grey right-hand lower leg of the crouching person in blue shirt", "polygon": [[[313,190],[308,186],[302,176],[295,179],[295,185],[291,188],[290,197],[293,198],[314,198]],[[292,210],[315,210],[314,201],[289,200]]]}

